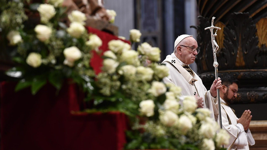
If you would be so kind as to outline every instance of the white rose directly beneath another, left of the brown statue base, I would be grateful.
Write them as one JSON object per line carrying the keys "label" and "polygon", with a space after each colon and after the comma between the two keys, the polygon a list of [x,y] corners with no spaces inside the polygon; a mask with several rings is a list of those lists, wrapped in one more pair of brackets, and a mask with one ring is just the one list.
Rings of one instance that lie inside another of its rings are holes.
{"label": "white rose directly beneath another, left of the brown statue base", "polygon": [[85,27],[78,22],[72,22],[67,29],[67,32],[74,38],[79,38],[85,32]]}

